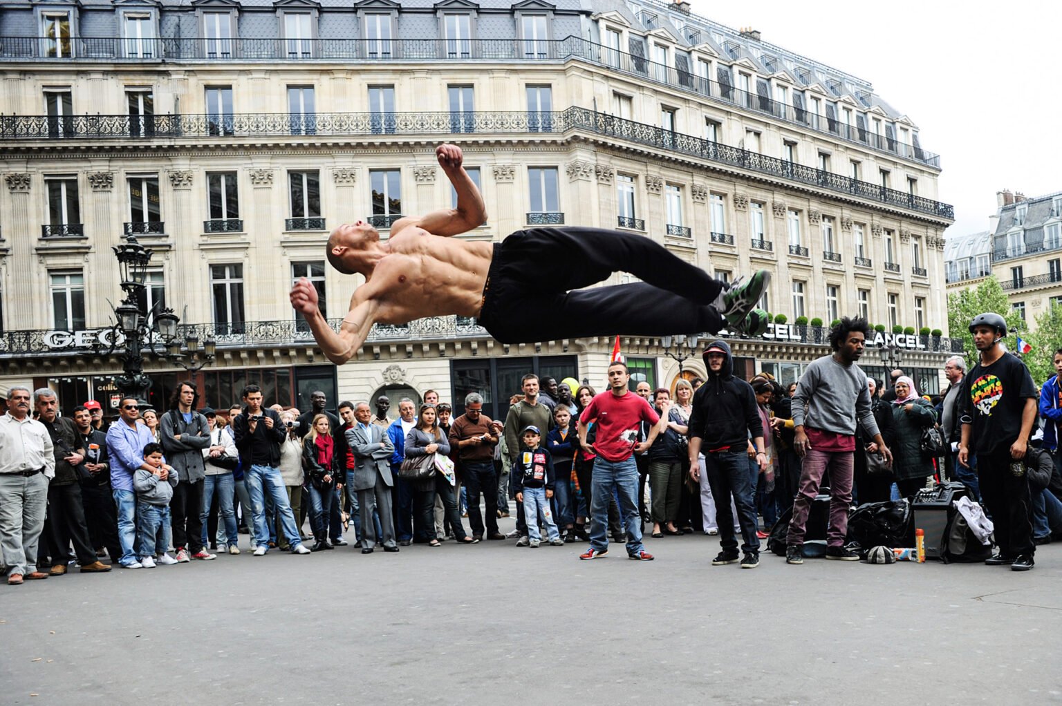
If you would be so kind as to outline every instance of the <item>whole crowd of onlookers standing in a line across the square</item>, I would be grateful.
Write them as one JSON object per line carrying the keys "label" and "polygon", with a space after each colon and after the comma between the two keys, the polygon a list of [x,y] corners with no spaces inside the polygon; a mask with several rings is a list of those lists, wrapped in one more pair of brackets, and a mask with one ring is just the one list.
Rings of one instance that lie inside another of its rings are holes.
{"label": "whole crowd of onlookers standing in a line across the square", "polygon": [[[346,546],[350,524],[362,554],[475,545],[507,538],[498,519],[511,501],[517,547],[588,543],[580,558],[596,559],[611,535],[630,558],[651,561],[649,524],[654,539],[718,535],[712,565],[742,568],[758,565],[765,530],[791,512],[786,562],[799,565],[825,478],[826,558],[854,561],[851,507],[910,498],[936,478],[983,501],[998,548],[987,563],[1027,570],[1037,545],[1062,536],[1062,348],[1038,392],[1004,348],[1000,316],[970,328],[977,363],[967,371],[962,357],[948,359],[936,403],[902,371],[888,390],[867,378],[858,361],[869,328],[858,318],[835,326],[833,352],[788,388],[767,374],[738,378],[729,345],[715,340],[706,379],[672,390],[631,390],[622,362],[609,366],[600,394],[528,374],[503,421],[483,413],[478,393],[456,418],[429,390],[419,407],[398,400],[392,419],[386,396],[342,401],[337,416],[314,392],[301,413],[264,407],[255,384],[219,414],[179,383],[168,410],[127,397],[107,426],[95,400],[65,415],[51,390],[14,386],[0,417],[3,568],[17,585],[73,565],[93,573],[213,561],[213,551],[240,554],[241,531],[255,556],[310,554]],[[944,453],[926,458],[920,440],[938,426]],[[1054,465],[1043,489],[1024,473],[1027,453],[1029,464],[1040,453],[1032,446]]]}

